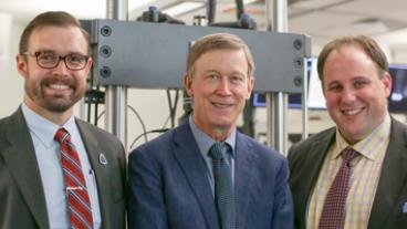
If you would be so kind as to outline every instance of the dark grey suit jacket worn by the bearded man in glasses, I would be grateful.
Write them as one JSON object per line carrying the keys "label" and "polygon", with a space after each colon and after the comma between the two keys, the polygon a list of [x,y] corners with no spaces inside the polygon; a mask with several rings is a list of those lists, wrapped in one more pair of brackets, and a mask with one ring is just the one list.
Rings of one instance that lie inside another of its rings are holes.
{"label": "dark grey suit jacket worn by the bearded man in glasses", "polygon": [[[125,154],[113,135],[76,119],[94,169],[102,228],[125,228]],[[107,165],[100,163],[103,153]],[[48,229],[45,196],[31,136],[19,108],[0,119],[0,228]]]}

